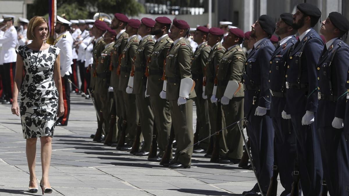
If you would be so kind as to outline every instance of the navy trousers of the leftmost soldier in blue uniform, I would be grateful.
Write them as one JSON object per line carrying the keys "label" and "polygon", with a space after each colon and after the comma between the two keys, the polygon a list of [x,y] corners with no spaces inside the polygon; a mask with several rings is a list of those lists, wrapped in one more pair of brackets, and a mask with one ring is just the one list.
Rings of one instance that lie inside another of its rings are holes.
{"label": "navy trousers of the leftmost soldier in blue uniform", "polygon": [[[262,191],[267,192],[270,178],[273,175],[272,167],[274,161],[274,129],[272,119],[269,116],[255,116],[254,111],[257,105],[252,106],[252,111],[247,130],[251,143],[251,152],[253,164],[256,168],[257,178]],[[259,190],[258,184],[255,184],[253,190]]]}

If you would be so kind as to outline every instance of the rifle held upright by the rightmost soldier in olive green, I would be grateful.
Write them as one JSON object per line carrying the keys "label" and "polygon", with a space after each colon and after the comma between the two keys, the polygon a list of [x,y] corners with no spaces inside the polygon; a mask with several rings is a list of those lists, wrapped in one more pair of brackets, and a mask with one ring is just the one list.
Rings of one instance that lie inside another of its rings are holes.
{"label": "rifle held upright by the rightmost soldier in olive green", "polygon": [[219,151],[220,145],[219,141],[221,138],[221,130],[222,129],[222,106],[221,102],[217,102],[217,119],[216,119],[216,134],[214,137],[213,151],[211,155],[210,162],[219,162]]}

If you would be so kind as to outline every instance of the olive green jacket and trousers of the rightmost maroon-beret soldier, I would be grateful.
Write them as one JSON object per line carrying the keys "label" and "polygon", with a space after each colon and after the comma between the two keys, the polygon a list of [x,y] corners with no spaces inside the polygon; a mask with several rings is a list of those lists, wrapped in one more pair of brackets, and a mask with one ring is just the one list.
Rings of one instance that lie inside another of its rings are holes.
{"label": "olive green jacket and trousers of the rightmost maroon-beret soldier", "polygon": [[[218,65],[217,70],[217,94],[216,98],[223,97],[227,84],[230,80],[240,82],[244,73],[245,53],[239,45],[232,46],[227,50]],[[242,85],[242,84],[241,84]],[[222,104],[222,119],[227,126],[244,118],[244,90],[240,88],[228,105]],[[240,124],[242,126],[242,123]],[[243,138],[237,124],[227,128],[227,137],[224,138],[228,146],[227,158],[241,159],[243,154]]]}

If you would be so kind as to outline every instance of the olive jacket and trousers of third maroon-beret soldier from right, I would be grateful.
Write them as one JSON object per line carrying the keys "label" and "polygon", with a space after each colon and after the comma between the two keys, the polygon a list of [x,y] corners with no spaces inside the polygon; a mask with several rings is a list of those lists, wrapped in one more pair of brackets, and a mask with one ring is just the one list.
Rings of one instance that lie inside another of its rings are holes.
{"label": "olive jacket and trousers of third maroon-beret soldier from right", "polygon": [[[195,93],[194,98],[196,106],[196,131],[198,131],[198,140],[201,141],[210,135],[210,121],[208,116],[208,103],[206,99],[202,98],[202,84],[203,84],[203,74],[205,73],[205,66],[208,58],[208,54],[211,51],[211,47],[207,45],[207,42],[203,42],[199,45],[193,55],[191,60],[191,70],[192,77],[195,82]],[[209,139],[204,140],[199,143],[199,148],[207,149]]]}

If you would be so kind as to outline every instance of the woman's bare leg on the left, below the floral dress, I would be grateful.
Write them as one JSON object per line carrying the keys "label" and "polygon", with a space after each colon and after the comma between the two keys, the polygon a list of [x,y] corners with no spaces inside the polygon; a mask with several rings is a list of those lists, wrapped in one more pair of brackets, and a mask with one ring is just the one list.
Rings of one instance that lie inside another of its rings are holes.
{"label": "woman's bare leg on the left, below the floral dress", "polygon": [[36,176],[35,176],[36,141],[37,141],[37,138],[27,139],[26,145],[25,145],[25,152],[27,154],[27,161],[28,161],[29,174],[30,174],[30,177],[29,177],[30,188],[38,187],[36,182]]}

